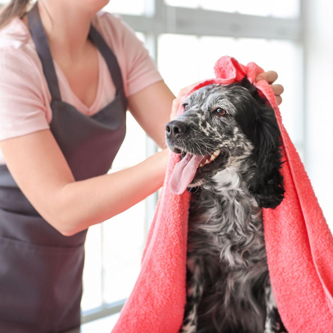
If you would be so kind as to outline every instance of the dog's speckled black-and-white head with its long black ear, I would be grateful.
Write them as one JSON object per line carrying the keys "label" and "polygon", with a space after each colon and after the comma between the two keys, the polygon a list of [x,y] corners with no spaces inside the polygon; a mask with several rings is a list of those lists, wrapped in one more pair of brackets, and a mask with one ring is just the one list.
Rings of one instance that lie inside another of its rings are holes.
{"label": "dog's speckled black-and-white head with its long black ear", "polygon": [[246,78],[211,84],[189,95],[183,107],[184,113],[166,125],[166,143],[184,159],[186,172],[180,173],[196,168],[188,187],[204,185],[242,159],[253,169],[248,187],[258,205],[275,208],[284,193],[280,132],[274,110],[256,88]]}

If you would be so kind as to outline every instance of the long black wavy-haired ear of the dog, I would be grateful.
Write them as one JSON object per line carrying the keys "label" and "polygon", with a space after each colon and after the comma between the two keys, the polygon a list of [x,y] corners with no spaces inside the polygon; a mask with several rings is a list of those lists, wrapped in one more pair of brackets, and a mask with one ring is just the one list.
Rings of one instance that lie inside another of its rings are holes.
{"label": "long black wavy-haired ear of the dog", "polygon": [[259,207],[275,208],[281,203],[285,192],[280,172],[280,131],[272,107],[262,100],[255,102],[256,119],[252,123],[251,139],[256,168],[249,190]]}

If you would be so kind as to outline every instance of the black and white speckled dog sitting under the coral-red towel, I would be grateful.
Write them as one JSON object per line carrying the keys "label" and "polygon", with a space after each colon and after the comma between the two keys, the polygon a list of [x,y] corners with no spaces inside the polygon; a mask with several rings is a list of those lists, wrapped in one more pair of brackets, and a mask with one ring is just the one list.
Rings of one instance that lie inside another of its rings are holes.
{"label": "black and white speckled dog sitting under the coral-red towel", "polygon": [[180,332],[286,332],[270,285],[261,209],[275,208],[284,195],[274,110],[246,78],[200,88],[183,106],[166,125],[167,145],[181,154],[183,167],[197,160],[187,185]]}

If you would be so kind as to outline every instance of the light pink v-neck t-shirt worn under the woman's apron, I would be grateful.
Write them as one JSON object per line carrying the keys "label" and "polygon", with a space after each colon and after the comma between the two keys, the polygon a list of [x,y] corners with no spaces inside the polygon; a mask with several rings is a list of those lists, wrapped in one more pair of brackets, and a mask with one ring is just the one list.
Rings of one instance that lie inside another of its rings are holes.
{"label": "light pink v-neck t-shirt worn under the woman's apron", "polygon": [[[127,97],[163,80],[148,50],[118,16],[101,11],[92,23],[117,58]],[[98,59],[98,90],[89,108],[73,93],[55,63],[62,100],[89,116],[109,104],[116,91],[100,52]],[[30,32],[23,21],[14,18],[0,30],[0,140],[48,129],[52,118],[50,102],[50,91]],[[0,151],[0,164],[4,163]]]}

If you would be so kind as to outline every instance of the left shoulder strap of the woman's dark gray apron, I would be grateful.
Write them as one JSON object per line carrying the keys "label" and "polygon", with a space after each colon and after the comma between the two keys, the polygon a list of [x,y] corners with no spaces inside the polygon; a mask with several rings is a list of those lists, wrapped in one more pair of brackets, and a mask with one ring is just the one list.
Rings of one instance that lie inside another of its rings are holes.
{"label": "left shoulder strap of the woman's dark gray apron", "polygon": [[37,2],[28,13],[28,25],[39,59],[42,62],[44,76],[49,86],[52,101],[61,101],[58,78],[54,68],[49,43],[39,15]]}

